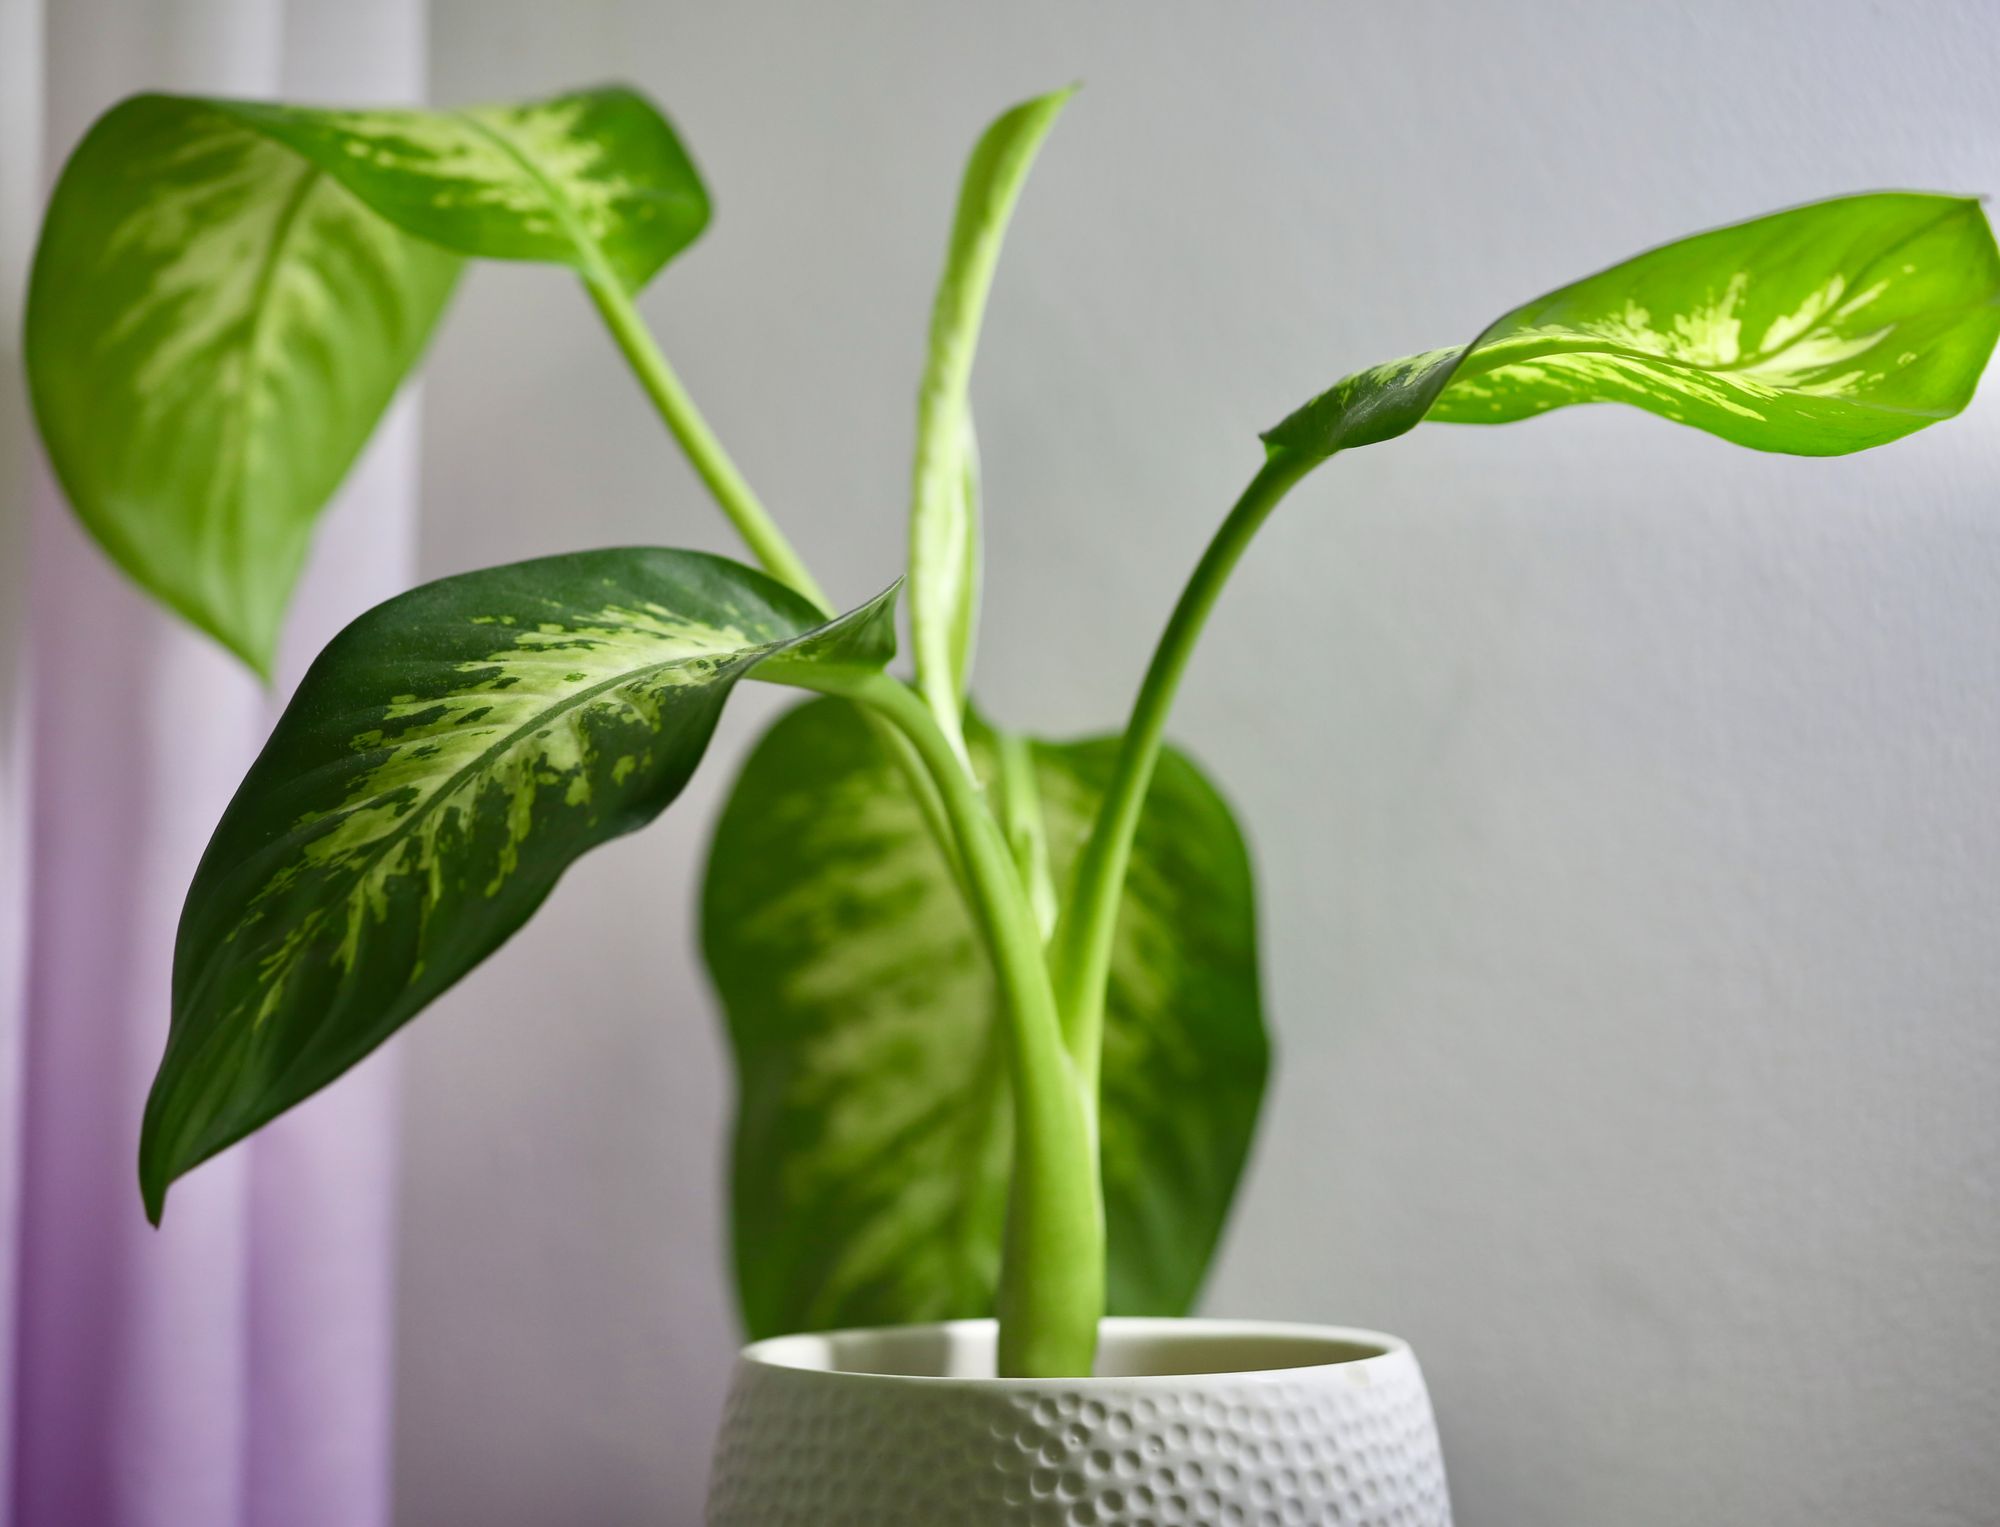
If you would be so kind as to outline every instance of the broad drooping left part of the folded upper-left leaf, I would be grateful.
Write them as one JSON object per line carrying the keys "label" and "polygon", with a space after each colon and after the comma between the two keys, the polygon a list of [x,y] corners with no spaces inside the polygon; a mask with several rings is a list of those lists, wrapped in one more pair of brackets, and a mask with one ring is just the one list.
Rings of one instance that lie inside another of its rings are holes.
{"label": "broad drooping left part of the folded upper-left leaf", "polygon": [[312,524],[458,264],[226,108],[116,106],[64,166],[28,288],[30,396],[76,516],[268,674]]}

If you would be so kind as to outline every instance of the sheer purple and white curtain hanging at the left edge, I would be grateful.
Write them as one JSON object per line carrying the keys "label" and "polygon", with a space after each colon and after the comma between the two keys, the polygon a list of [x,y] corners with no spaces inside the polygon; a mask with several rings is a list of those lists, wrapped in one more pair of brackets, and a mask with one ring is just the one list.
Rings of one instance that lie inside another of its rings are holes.
{"label": "sheer purple and white curtain hanging at the left edge", "polygon": [[328,512],[266,694],[70,520],[16,346],[40,198],[112,100],[414,100],[422,64],[418,0],[0,0],[4,1527],[388,1521],[394,1051],[196,1171],[158,1233],[136,1151],[208,831],[306,658],[412,582],[414,400]]}

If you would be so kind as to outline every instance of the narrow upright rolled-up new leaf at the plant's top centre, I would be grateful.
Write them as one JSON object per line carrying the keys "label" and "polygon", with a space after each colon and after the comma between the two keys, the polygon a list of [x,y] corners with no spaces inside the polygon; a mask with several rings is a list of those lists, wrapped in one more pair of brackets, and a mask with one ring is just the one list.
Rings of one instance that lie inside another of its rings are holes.
{"label": "narrow upright rolled-up new leaf at the plant's top centre", "polygon": [[968,398],[972,356],[1014,202],[1042,138],[1072,94],[1074,88],[1026,100],[980,136],[958,188],[952,244],[930,310],[910,486],[910,652],[916,688],[944,734],[960,746],[980,598],[978,452]]}

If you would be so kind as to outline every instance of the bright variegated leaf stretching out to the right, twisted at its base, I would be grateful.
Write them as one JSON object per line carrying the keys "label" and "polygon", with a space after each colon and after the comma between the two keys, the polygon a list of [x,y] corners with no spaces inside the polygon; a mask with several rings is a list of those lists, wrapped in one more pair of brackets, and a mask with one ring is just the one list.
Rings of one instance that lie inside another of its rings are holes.
{"label": "bright variegated leaf stretching out to the right, twisted at its base", "polygon": [[1622,402],[1754,450],[1840,456],[1962,410],[1996,336],[2000,252],[1976,200],[1842,196],[1666,244],[1470,346],[1358,372],[1264,440],[1320,458],[1426,418]]}

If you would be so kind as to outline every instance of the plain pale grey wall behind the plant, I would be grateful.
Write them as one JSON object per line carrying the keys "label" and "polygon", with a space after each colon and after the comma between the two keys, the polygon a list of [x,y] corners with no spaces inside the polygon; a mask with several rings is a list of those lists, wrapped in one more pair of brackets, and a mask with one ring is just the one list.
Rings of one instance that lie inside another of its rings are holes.
{"label": "plain pale grey wall behind the plant", "polygon": [[[1086,92],[976,402],[980,690],[1112,726],[1254,432],[1706,224],[2000,174],[1990,4],[452,0],[434,92],[624,76],[718,204],[646,300],[840,594],[896,570],[964,150]],[[430,572],[726,548],[560,276],[430,370]],[[1208,1307],[1424,1355],[1466,1527],[2000,1523],[2000,384],[1836,462],[1622,410],[1328,468],[1176,734],[1282,1073]],[[410,1523],[690,1523],[728,1351],[704,781],[404,1041]]]}

